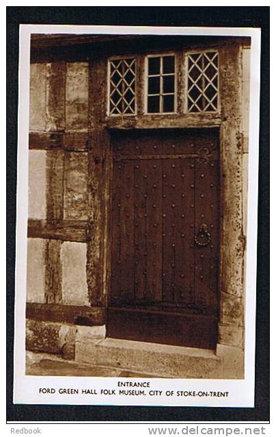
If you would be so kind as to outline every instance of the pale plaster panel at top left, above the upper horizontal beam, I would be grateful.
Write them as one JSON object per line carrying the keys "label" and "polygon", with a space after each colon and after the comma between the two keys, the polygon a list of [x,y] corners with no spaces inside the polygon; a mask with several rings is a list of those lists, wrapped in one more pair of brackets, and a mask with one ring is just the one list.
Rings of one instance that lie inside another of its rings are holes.
{"label": "pale plaster panel at top left, above the upper horizontal beam", "polygon": [[30,66],[29,130],[44,131],[46,128],[46,64]]}

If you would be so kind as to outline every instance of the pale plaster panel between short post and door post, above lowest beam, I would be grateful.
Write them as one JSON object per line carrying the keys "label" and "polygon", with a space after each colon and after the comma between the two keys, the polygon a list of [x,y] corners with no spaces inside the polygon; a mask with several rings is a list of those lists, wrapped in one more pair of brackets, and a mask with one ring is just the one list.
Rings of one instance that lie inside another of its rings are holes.
{"label": "pale plaster panel between short post and door post, above lowest beam", "polygon": [[66,305],[87,305],[86,244],[66,241],[61,245],[62,302]]}

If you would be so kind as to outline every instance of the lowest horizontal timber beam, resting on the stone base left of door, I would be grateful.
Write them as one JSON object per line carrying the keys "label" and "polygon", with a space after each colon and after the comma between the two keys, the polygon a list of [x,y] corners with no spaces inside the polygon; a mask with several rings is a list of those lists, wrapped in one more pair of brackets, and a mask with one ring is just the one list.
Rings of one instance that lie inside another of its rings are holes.
{"label": "lowest horizontal timber beam, resting on the stone base left of door", "polygon": [[67,323],[70,325],[104,325],[106,309],[80,305],[27,303],[26,318],[44,322]]}

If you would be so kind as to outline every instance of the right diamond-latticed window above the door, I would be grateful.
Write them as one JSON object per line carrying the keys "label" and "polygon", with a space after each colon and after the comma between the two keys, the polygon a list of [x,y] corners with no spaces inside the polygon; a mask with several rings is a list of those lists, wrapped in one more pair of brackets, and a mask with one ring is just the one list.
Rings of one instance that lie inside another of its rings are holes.
{"label": "right diamond-latticed window above the door", "polygon": [[219,104],[219,53],[191,53],[188,58],[188,112],[217,112]]}

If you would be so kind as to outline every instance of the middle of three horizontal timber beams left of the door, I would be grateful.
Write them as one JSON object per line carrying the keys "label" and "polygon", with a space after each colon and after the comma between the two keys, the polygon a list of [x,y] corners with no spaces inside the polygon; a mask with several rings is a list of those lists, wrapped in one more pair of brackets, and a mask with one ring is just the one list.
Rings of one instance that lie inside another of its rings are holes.
{"label": "middle of three horizontal timber beams left of the door", "polygon": [[29,238],[49,238],[51,240],[89,241],[88,222],[85,220],[33,220],[28,221]]}

